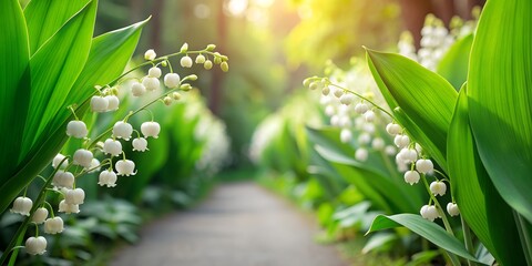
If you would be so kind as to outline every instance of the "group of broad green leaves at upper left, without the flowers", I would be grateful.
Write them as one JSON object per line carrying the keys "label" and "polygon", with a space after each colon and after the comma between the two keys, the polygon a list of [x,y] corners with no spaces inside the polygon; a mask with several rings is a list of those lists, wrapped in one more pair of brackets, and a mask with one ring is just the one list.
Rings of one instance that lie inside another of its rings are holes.
{"label": "group of broad green leaves at upper left, without the flowers", "polygon": [[123,71],[145,23],[92,39],[98,1],[86,1],[75,11],[78,3],[64,9],[61,8],[64,4],[54,1],[48,1],[50,4],[45,7],[40,6],[42,2],[47,1],[28,4],[25,13],[31,14],[28,22],[17,1],[3,1],[0,8],[10,11],[2,18],[17,21],[19,27],[9,27],[8,32],[11,29],[17,32],[2,34],[8,38],[2,43],[17,44],[2,44],[2,58],[17,57],[10,63],[18,65],[24,62],[23,58],[30,60],[30,47],[34,52],[23,70],[6,65],[0,71],[9,75],[4,86],[7,96],[1,98],[6,101],[1,121],[4,126],[10,124],[9,137],[13,137],[7,140],[0,151],[2,165],[7,165],[0,177],[0,193],[4,195],[0,212],[50,163],[65,142],[64,129],[72,119],[66,106],[78,104],[76,113],[82,116],[86,99],[94,92],[92,88],[112,81]]}

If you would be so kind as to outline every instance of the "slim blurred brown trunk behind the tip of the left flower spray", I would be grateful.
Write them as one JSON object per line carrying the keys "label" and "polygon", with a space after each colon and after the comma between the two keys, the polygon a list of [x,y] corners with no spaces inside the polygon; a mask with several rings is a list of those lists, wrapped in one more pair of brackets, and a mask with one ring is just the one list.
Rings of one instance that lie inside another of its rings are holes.
{"label": "slim blurred brown trunk behind the tip of the left flower spray", "polygon": [[[224,1],[219,0],[216,13],[216,50],[225,54],[226,53],[226,39],[227,39],[227,21],[224,13]],[[223,102],[223,83],[224,75],[218,65],[213,66],[213,83],[211,85],[211,98],[208,99],[208,108],[211,111],[219,116]]]}

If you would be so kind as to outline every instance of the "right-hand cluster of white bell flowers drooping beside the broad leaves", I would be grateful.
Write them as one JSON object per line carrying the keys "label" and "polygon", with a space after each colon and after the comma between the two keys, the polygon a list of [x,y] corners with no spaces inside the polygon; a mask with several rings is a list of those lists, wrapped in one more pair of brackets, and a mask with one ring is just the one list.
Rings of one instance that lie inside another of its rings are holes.
{"label": "right-hand cluster of white bell flowers drooping beside the broad leaves", "polygon": [[[429,204],[422,206],[421,216],[429,221],[442,217],[443,209],[437,196],[446,195],[448,180],[434,168],[433,162],[412,141],[408,131],[395,123],[391,113],[382,108],[386,103],[378,96],[370,74],[357,65],[348,72],[337,69],[329,69],[329,72],[331,74],[328,78],[309,78],[304,85],[321,91],[320,102],[325,105],[325,114],[330,117],[330,125],[341,129],[340,141],[356,147],[357,161],[368,160],[369,151],[395,156],[397,170],[403,173],[406,183],[415,185],[422,180],[427,184],[431,197]],[[346,88],[357,89],[351,91]],[[388,135],[381,135],[381,132]],[[437,174],[443,178],[438,178]],[[429,185],[427,178],[434,181]],[[452,202],[447,211],[451,216],[459,214],[458,205]]]}

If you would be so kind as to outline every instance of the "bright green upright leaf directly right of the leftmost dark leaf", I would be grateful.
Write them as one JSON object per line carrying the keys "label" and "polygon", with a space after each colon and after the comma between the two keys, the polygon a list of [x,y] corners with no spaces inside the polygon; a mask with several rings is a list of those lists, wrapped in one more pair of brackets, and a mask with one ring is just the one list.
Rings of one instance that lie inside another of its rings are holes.
{"label": "bright green upright leaf directly right of the leftmost dark leaf", "polygon": [[86,62],[96,3],[92,1],[69,20],[30,60],[32,88],[29,116],[22,137],[23,156],[62,108]]}

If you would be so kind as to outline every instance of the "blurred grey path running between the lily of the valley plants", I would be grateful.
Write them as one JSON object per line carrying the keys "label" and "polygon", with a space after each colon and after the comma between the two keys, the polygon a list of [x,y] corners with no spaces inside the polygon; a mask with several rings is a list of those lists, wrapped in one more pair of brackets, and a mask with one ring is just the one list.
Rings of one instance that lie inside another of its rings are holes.
{"label": "blurred grey path running between the lily of the valley plants", "polygon": [[202,205],[152,223],[114,266],[347,266],[316,225],[253,183],[219,185]]}

